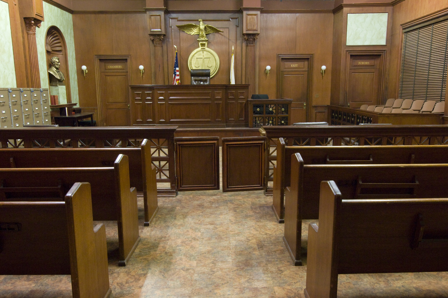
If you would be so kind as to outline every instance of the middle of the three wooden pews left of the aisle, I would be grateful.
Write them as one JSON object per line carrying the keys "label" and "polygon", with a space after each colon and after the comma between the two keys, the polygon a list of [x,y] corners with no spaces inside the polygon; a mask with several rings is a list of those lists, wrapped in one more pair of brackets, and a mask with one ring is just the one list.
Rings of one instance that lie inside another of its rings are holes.
{"label": "middle of the three wooden pews left of the aisle", "polygon": [[89,182],[93,219],[118,222],[119,266],[126,265],[140,241],[137,190],[129,186],[126,155],[118,155],[113,167],[0,168],[0,181],[0,201],[22,200],[30,191],[41,201],[39,197],[65,193],[77,181]]}

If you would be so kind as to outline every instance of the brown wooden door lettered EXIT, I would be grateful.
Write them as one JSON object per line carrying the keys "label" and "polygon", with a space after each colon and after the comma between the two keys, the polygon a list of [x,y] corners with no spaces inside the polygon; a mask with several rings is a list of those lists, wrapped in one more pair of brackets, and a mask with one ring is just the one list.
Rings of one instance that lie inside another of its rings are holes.
{"label": "brown wooden door lettered EXIT", "polygon": [[281,59],[280,98],[291,98],[291,123],[308,119],[308,59]]}

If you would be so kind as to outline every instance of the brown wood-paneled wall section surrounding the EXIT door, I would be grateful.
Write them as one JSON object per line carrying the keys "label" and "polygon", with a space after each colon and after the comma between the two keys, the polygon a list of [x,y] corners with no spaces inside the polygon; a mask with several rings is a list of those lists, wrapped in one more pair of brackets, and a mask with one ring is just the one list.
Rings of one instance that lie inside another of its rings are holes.
{"label": "brown wood-paneled wall section surrounding the EXIT door", "polygon": [[[316,38],[318,36],[319,38]],[[277,54],[312,54],[311,97],[313,106],[330,104],[332,80],[333,14],[325,13],[261,13],[261,34],[258,36],[258,93],[276,98]],[[271,66],[267,76],[266,66]],[[320,67],[327,66],[322,78]],[[315,95],[319,97],[315,97]],[[310,121],[316,111],[310,111]]]}

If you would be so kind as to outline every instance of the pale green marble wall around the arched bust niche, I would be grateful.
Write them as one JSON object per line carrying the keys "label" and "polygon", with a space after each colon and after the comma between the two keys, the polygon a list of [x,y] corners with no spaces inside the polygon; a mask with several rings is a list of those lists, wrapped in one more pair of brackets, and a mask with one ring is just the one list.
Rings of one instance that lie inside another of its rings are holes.
{"label": "pale green marble wall around the arched bust niche", "polygon": [[[79,102],[78,77],[76,76],[75,43],[73,38],[73,19],[70,13],[57,8],[47,2],[43,2],[43,16],[45,21],[36,29],[37,54],[39,57],[40,83],[42,88],[48,88],[47,57],[45,52],[45,34],[50,26],[56,26],[64,35],[67,44],[69,60],[70,88],[72,102]],[[66,76],[66,74],[64,74]],[[62,104],[63,102],[59,102]]]}

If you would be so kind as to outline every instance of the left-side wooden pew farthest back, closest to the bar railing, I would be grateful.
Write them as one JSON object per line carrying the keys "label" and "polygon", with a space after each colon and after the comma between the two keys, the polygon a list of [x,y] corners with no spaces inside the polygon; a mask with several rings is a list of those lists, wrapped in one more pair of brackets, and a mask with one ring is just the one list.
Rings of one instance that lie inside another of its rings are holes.
{"label": "left-side wooden pew farthest back, closest to the bar railing", "polygon": [[130,185],[143,192],[143,225],[147,227],[159,208],[156,169],[151,164],[151,146],[147,139],[140,148],[0,149],[0,168],[110,167],[119,154],[128,156]]}

